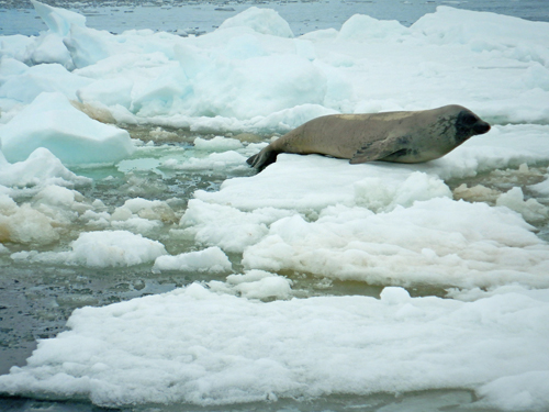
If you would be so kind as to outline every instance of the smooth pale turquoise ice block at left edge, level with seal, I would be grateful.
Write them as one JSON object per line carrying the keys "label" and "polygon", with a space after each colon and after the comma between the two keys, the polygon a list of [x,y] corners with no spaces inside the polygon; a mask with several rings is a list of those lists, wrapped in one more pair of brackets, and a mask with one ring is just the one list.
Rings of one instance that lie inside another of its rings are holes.
{"label": "smooth pale turquoise ice block at left edge, level with seal", "polygon": [[65,165],[115,163],[134,145],[126,131],[99,123],[75,109],[61,93],[42,93],[8,124],[0,126],[9,162],[46,147]]}

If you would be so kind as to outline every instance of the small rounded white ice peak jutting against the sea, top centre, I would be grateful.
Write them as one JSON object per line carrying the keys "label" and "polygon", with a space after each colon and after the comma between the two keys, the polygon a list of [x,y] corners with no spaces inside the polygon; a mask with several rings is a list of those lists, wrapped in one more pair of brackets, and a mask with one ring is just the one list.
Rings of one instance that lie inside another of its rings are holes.
{"label": "small rounded white ice peak jutting against the sea, top centre", "polygon": [[236,14],[234,18],[225,20],[217,30],[240,26],[250,27],[262,34],[270,34],[280,37],[293,37],[293,32],[288,22],[272,9],[250,7],[242,13]]}

